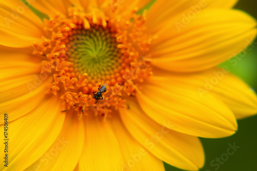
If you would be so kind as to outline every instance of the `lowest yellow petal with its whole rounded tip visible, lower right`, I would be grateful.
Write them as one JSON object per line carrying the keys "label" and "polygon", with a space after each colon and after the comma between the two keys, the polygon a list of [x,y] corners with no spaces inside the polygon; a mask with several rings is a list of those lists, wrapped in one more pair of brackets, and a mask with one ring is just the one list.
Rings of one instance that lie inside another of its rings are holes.
{"label": "lowest yellow petal with its whole rounded tip visible, lower right", "polygon": [[[178,133],[148,117],[135,100],[128,100],[129,109],[120,116],[131,135],[160,160],[186,170],[204,165],[204,151],[197,137]],[[172,121],[164,123],[168,127]]]}

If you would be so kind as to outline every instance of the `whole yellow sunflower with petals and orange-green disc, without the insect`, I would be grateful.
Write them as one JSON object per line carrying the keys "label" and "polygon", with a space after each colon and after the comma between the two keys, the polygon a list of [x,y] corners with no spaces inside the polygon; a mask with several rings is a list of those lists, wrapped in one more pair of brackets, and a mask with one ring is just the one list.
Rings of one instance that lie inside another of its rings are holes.
{"label": "whole yellow sunflower with petals and orange-green disc, without the insect", "polygon": [[27,3],[47,17],[0,3],[1,170],[198,170],[198,137],[257,113],[250,87],[216,67],[256,35],[235,0]]}

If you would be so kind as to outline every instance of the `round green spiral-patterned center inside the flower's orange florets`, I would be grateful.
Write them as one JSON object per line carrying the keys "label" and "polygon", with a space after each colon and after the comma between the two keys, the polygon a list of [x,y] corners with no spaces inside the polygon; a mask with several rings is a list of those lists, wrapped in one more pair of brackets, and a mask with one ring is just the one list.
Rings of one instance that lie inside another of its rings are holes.
{"label": "round green spiral-patterned center inside the flower's orange florets", "polygon": [[101,78],[119,67],[121,53],[114,33],[108,28],[77,29],[68,39],[67,55],[74,62],[75,72]]}

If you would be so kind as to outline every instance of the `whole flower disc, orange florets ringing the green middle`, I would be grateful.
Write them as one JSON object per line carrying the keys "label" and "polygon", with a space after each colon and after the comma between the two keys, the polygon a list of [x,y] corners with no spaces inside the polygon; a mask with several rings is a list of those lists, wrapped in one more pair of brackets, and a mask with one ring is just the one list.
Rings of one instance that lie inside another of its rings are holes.
{"label": "whole flower disc, orange florets ringing the green middle", "polygon": [[[136,14],[137,8],[125,18],[108,18],[97,9],[87,14],[76,7],[68,11],[68,18],[56,14],[44,19],[51,34],[32,44],[33,53],[47,57],[42,73],[54,80],[47,93],[59,96],[66,111],[76,111],[79,118],[93,108],[106,119],[126,108],[126,97],[135,96],[140,82],[152,75],[147,54],[154,36],[145,34],[145,18]],[[107,91],[96,103],[93,91],[104,83]]]}

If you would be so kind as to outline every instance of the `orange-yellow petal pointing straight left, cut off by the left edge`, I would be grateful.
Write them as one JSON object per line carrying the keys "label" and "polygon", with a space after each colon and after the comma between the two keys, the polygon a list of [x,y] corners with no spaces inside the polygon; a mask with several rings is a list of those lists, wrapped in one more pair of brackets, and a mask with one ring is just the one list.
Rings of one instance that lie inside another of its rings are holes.
{"label": "orange-yellow petal pointing straight left, cut off by the left edge", "polygon": [[5,49],[0,52],[0,102],[29,93],[28,84],[40,76],[41,68],[36,57]]}

